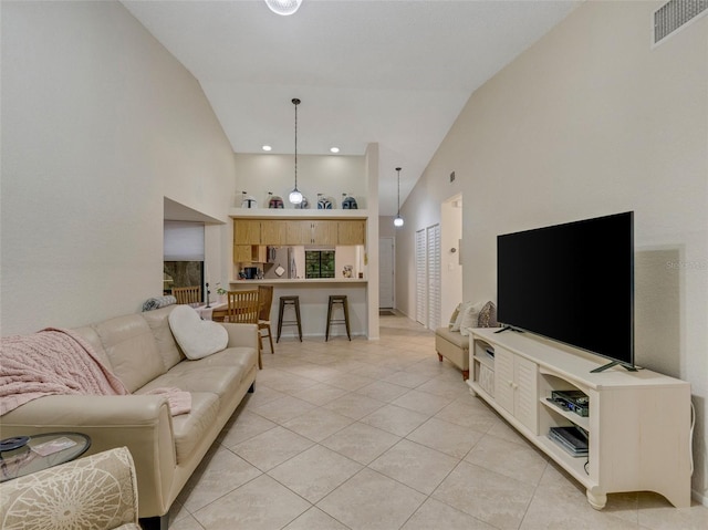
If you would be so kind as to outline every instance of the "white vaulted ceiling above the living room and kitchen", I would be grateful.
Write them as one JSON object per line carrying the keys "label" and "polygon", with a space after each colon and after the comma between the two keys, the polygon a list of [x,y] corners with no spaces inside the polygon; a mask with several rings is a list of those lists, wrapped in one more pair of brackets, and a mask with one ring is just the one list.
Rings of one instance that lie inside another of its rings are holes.
{"label": "white vaulted ceiling above the living room and kitchen", "polygon": [[471,93],[582,0],[262,0],[123,4],[201,84],[236,153],[363,155],[396,212]]}

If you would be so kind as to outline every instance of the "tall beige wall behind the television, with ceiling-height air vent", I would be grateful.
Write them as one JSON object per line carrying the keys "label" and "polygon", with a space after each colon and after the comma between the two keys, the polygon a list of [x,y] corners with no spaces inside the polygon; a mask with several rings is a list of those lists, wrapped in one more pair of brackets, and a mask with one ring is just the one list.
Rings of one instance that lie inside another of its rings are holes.
{"label": "tall beige wall behind the television, with ceiling-height air vent", "polygon": [[455,193],[475,300],[496,299],[497,235],[634,210],[636,362],[691,383],[707,502],[708,17],[652,50],[660,3],[585,2],[471,95],[404,205],[396,292],[415,314],[415,230]]}

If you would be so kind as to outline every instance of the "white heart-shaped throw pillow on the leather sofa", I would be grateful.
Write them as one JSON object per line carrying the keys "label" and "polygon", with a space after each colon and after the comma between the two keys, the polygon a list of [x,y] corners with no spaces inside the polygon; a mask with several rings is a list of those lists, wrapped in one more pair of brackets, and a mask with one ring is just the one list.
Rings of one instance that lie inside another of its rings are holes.
{"label": "white heart-shaped throw pillow on the leather sofa", "polygon": [[168,321],[169,329],[187,358],[206,357],[220,352],[229,343],[229,333],[222,325],[201,320],[199,313],[189,305],[177,305],[169,313]]}

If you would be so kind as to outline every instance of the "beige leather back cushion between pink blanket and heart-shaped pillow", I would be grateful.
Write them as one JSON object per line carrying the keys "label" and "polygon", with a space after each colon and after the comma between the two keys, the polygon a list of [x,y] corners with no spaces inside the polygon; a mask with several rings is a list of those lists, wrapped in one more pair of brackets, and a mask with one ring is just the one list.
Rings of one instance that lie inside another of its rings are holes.
{"label": "beige leather back cushion between pink blanket and heart-shaped pillow", "polygon": [[92,324],[111,360],[113,373],[128,392],[135,392],[165,372],[155,336],[139,314]]}

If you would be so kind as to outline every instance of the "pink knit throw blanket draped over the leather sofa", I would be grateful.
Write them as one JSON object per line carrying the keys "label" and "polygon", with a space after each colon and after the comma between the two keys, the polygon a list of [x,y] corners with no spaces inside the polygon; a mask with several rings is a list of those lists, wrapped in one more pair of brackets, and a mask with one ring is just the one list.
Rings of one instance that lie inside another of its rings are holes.
{"label": "pink knit throw blanket draped over the leather sofa", "polygon": [[[164,391],[170,407],[173,401],[179,404],[179,412],[173,409],[173,415],[189,412],[191,395],[188,392]],[[127,395],[129,392],[103,365],[91,345],[69,330],[48,328],[33,335],[2,337],[0,416],[38,397],[65,394]]]}

